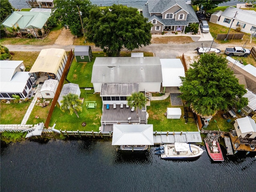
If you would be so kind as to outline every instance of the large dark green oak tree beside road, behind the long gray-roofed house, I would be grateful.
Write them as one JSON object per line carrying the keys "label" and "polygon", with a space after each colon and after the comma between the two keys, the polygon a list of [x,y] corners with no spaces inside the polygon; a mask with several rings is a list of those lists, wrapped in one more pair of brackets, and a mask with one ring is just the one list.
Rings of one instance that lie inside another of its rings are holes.
{"label": "large dark green oak tree beside road, behind the long gray-roofed house", "polygon": [[131,51],[150,44],[152,24],[136,8],[115,4],[104,9],[92,8],[84,23],[87,40],[109,56],[120,56],[123,47]]}

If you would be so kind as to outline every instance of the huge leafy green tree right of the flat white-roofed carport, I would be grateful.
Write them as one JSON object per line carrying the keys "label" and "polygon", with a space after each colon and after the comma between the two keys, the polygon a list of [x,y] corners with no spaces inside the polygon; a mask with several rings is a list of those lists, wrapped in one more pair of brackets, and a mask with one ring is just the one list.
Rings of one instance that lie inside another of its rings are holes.
{"label": "huge leafy green tree right of the flat white-roofed carport", "polygon": [[242,97],[246,93],[244,85],[227,68],[226,59],[215,53],[201,55],[180,78],[181,98],[200,116],[213,116],[218,110],[230,106],[239,109],[248,104],[248,99]]}

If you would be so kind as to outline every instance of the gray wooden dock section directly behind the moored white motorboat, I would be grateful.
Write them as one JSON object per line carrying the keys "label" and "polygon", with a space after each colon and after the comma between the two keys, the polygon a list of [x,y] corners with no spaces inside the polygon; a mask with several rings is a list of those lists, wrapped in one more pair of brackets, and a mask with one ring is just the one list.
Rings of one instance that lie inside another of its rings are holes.
{"label": "gray wooden dock section directly behind the moored white motorboat", "polygon": [[202,143],[200,132],[155,132],[154,144]]}

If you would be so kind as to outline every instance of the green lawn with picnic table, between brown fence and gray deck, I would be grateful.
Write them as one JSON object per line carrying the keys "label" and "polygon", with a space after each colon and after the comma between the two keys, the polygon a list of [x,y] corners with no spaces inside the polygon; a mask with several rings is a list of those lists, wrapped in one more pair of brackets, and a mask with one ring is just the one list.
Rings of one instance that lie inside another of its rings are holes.
{"label": "green lawn with picnic table, between brown fence and gray deck", "polygon": [[[60,106],[57,103],[50,120],[50,125],[53,126],[56,123],[55,128],[57,130],[70,130],[70,131],[99,131],[100,119],[102,116],[102,99],[100,94],[93,94],[93,90],[81,90],[80,98],[84,98],[82,104],[82,112],[78,112],[79,118],[76,114],[68,114],[62,112]],[[86,109],[85,101],[96,101],[96,109]],[[82,122],[86,122],[86,126],[82,126]]]}

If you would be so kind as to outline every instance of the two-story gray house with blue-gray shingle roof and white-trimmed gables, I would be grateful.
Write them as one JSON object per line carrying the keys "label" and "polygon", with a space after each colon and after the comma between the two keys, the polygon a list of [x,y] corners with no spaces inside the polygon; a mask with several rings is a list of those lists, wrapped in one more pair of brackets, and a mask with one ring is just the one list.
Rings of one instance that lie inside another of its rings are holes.
{"label": "two-story gray house with blue-gray shingle roof and white-trimmed gables", "polygon": [[149,0],[143,8],[143,16],[154,25],[151,33],[182,32],[186,26],[199,22],[192,6],[184,0]]}

